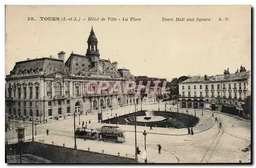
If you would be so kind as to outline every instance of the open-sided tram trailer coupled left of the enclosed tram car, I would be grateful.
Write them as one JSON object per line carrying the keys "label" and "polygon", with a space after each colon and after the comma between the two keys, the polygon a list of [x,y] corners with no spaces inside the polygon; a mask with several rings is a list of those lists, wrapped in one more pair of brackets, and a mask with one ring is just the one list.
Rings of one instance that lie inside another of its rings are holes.
{"label": "open-sided tram trailer coupled left of the enclosed tram car", "polygon": [[97,129],[93,129],[91,126],[82,127],[77,126],[75,132],[76,138],[83,138],[83,139],[97,139]]}

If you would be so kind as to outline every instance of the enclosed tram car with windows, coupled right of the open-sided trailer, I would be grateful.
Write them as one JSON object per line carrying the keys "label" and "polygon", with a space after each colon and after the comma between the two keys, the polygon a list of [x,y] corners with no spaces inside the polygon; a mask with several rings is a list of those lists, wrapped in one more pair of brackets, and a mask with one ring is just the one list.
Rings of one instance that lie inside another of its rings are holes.
{"label": "enclosed tram car with windows, coupled right of the open-sided trailer", "polygon": [[102,126],[100,129],[97,129],[97,132],[99,140],[115,141],[120,143],[125,141],[125,131],[118,127]]}

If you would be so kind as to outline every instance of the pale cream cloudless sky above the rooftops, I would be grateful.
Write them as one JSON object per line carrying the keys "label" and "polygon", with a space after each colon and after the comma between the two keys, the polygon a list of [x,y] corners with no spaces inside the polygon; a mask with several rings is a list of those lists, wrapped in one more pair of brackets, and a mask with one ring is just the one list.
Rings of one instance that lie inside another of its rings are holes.
{"label": "pale cream cloudless sky above the rooftops", "polygon": [[[89,17],[106,20],[89,21]],[[117,21],[107,21],[108,17]],[[123,17],[141,21],[122,21]],[[162,17],[185,21],[162,21]],[[210,21],[186,21],[197,17]],[[129,68],[135,76],[170,81],[184,75],[223,74],[227,68],[234,73],[241,65],[250,70],[250,20],[250,6],[7,6],[5,74],[27,58],[57,58],[59,51],[66,52],[65,60],[72,51],[86,54],[92,26],[100,58],[117,61],[118,67]]]}

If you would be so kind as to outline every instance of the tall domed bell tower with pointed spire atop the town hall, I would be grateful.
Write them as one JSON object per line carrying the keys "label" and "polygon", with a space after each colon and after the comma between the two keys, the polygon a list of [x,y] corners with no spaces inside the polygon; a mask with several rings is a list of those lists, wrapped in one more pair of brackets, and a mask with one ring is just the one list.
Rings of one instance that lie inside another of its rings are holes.
{"label": "tall domed bell tower with pointed spire atop the town hall", "polygon": [[88,49],[87,49],[86,56],[89,56],[91,61],[99,59],[98,40],[93,31],[93,27],[90,32],[90,36],[88,37],[87,43],[88,43]]}

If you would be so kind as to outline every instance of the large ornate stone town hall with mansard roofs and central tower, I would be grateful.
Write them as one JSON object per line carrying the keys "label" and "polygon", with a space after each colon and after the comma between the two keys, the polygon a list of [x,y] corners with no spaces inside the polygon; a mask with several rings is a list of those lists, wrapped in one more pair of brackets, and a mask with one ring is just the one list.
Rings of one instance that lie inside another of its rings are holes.
{"label": "large ornate stone town hall with mansard roofs and central tower", "polygon": [[16,62],[6,76],[6,115],[11,118],[55,119],[71,113],[92,113],[101,108],[132,105],[140,102],[134,90],[127,93],[109,89],[88,94],[86,85],[94,83],[97,90],[101,81],[111,84],[134,81],[129,69],[118,68],[117,62],[101,59],[98,40],[92,28],[85,55],[71,53],[65,62],[65,52],[58,58],[42,57]]}

